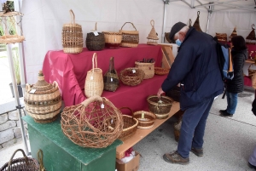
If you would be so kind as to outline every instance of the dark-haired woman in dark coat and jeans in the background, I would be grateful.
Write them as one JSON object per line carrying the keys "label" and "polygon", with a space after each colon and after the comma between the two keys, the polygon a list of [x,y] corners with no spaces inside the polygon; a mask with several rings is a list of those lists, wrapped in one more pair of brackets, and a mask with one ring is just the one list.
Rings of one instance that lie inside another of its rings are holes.
{"label": "dark-haired woman in dark coat and jeans in the background", "polygon": [[233,60],[234,77],[226,81],[227,108],[220,110],[221,116],[233,117],[236,111],[237,94],[243,91],[243,65],[247,60],[247,46],[245,39],[241,36],[231,38],[231,55]]}

